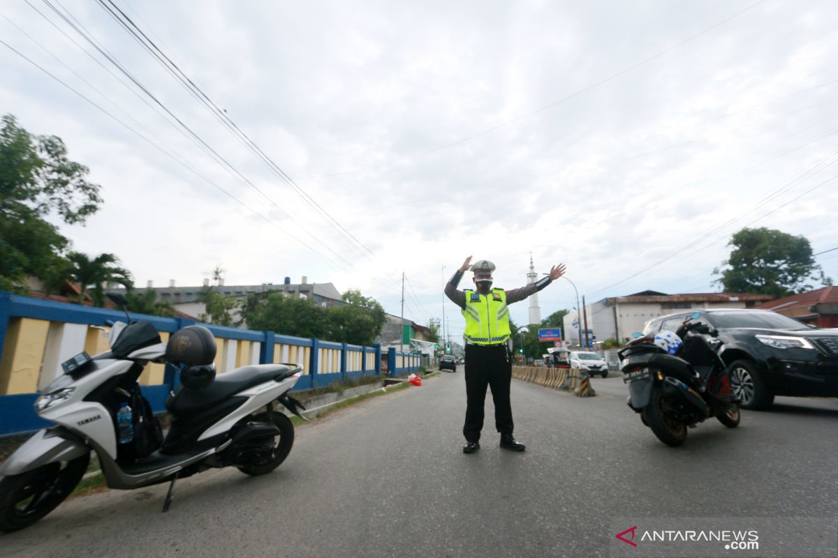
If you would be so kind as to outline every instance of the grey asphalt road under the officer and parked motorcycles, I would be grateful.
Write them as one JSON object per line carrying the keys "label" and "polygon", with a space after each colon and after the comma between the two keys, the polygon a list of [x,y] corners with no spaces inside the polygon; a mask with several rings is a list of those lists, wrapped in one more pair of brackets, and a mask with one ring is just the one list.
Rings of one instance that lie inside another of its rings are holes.
{"label": "grey asphalt road under the officer and parked motorcycles", "polygon": [[625,406],[621,377],[582,399],[513,381],[515,435],[494,408],[462,453],[463,367],[297,428],[285,463],[73,499],[3,556],[599,556],[616,517],[838,517],[838,402],[779,398],[668,448]]}

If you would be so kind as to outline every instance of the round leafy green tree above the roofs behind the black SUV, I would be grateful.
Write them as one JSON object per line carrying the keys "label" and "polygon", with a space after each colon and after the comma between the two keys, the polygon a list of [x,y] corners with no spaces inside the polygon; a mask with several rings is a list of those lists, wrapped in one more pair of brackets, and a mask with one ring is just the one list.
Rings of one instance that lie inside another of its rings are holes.
{"label": "round leafy green tree above the roofs behind the black SUV", "polygon": [[801,293],[810,281],[831,284],[815,264],[809,240],[773,228],[743,228],[727,243],[730,257],[716,268],[722,277],[716,283],[728,292],[772,294],[776,297]]}

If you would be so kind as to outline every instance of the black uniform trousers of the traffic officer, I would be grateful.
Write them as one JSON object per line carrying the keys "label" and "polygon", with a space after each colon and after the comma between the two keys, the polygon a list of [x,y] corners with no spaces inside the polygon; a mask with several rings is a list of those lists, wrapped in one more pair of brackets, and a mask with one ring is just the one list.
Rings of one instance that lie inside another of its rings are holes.
{"label": "black uniform trousers of the traffic officer", "polygon": [[466,345],[466,422],[463,436],[467,442],[477,442],[483,430],[486,387],[492,388],[494,426],[501,434],[511,434],[512,359],[505,345]]}

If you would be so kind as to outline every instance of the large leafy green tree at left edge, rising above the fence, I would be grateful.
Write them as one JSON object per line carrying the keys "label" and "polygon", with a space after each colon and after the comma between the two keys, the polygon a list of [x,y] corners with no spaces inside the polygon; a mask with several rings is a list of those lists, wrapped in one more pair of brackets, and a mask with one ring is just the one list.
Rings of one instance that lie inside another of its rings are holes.
{"label": "large leafy green tree at left edge, rising above the fence", "polygon": [[101,205],[88,169],[67,158],[56,136],[33,136],[5,115],[0,126],[0,289],[23,289],[29,275],[57,282],[70,241],[44,220],[84,223]]}

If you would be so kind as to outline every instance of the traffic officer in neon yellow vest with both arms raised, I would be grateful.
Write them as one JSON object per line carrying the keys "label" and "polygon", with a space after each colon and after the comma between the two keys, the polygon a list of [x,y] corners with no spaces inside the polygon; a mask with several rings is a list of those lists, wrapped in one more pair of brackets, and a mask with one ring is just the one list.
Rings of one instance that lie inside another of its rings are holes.
{"label": "traffic officer in neon yellow vest with both arms raised", "polygon": [[[520,289],[492,289],[494,264],[481,259],[473,265],[468,256],[445,285],[445,294],[463,310],[466,330],[466,421],[463,436],[466,445],[463,453],[480,449],[480,431],[483,430],[486,387],[492,389],[494,401],[494,426],[500,433],[500,447],[523,452],[526,446],[515,440],[512,431],[510,384],[512,383],[512,355],[507,345],[510,340],[510,310],[507,305],[526,299],[544,289],[565,273],[565,266],[554,265],[547,277]],[[457,289],[469,266],[474,272],[477,290]]]}

